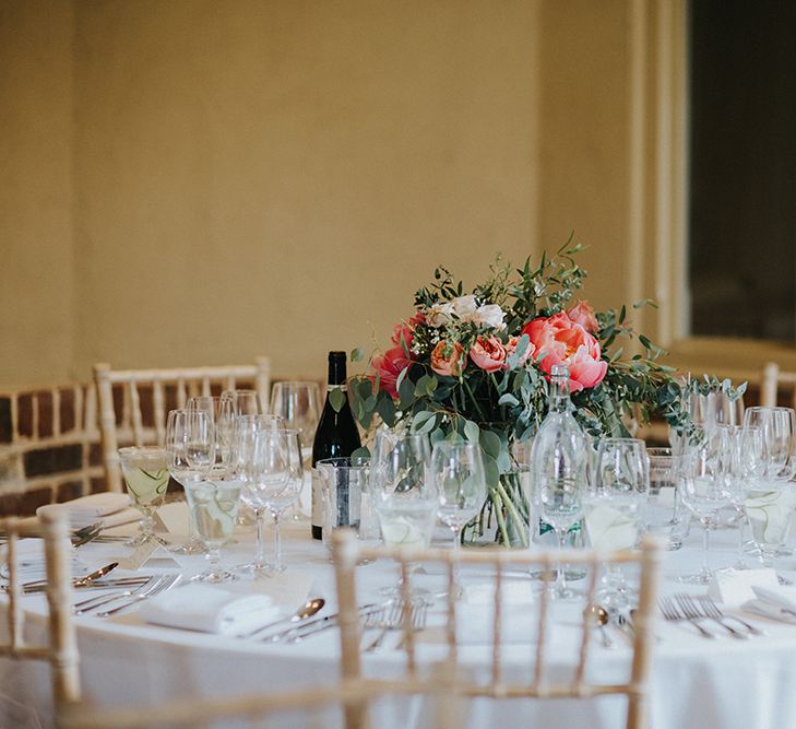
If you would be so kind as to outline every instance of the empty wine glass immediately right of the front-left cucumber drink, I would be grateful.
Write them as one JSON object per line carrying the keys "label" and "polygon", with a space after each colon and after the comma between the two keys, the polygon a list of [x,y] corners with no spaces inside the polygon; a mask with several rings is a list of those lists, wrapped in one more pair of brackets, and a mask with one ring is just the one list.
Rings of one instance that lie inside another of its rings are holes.
{"label": "empty wine glass immediately right of the front-left cucumber drink", "polygon": [[237,572],[252,579],[270,577],[273,565],[265,563],[263,519],[272,499],[290,481],[290,455],[284,431],[271,427],[259,416],[239,419],[237,433],[238,468],[243,477],[241,498],[254,512],[257,555],[254,562],[238,565]]}

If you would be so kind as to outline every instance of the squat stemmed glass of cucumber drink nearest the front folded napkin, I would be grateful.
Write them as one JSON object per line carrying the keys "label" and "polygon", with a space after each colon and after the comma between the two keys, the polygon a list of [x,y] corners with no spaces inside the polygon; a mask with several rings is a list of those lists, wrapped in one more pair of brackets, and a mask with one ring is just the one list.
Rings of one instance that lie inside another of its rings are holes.
{"label": "squat stemmed glass of cucumber drink nearest the front folded napkin", "polygon": [[235,473],[209,472],[186,483],[186,496],[199,539],[207,550],[207,569],[193,579],[206,583],[228,583],[236,575],[221,567],[221,548],[235,530],[243,481]]}

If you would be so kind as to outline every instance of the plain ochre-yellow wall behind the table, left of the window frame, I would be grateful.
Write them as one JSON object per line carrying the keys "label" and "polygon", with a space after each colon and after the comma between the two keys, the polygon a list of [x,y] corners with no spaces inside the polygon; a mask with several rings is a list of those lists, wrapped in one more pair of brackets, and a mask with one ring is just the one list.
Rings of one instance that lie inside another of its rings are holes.
{"label": "plain ochre-yellow wall behind the table, left of the window frame", "polygon": [[0,389],[321,377],[572,230],[621,303],[631,2],[0,0]]}

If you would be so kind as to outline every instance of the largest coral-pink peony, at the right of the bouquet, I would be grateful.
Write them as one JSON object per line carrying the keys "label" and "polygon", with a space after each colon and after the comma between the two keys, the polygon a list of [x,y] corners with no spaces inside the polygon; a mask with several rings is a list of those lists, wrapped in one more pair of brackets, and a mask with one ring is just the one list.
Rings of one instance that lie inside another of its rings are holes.
{"label": "largest coral-pink peony, at the right of the bouquet", "polygon": [[603,381],[608,363],[601,360],[599,343],[566,314],[534,319],[522,333],[531,338],[535,358],[544,372],[549,374],[555,364],[569,365],[572,392]]}

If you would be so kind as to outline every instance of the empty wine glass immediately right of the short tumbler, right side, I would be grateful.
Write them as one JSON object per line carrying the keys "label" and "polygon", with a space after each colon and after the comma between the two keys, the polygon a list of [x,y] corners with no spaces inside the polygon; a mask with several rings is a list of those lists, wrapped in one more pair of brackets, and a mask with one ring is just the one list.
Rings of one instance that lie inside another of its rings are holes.
{"label": "empty wine glass immediately right of the short tumbler, right side", "polygon": [[680,496],[704,529],[702,568],[694,575],[681,576],[682,583],[709,585],[713,580],[709,563],[710,532],[721,509],[730,504],[730,462],[732,444],[727,428],[716,428],[703,447],[680,457],[677,484]]}

